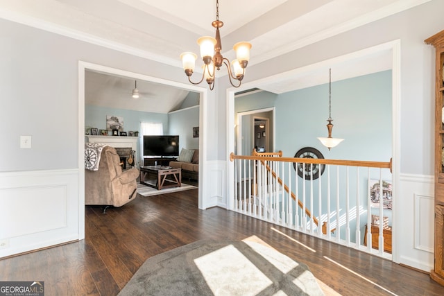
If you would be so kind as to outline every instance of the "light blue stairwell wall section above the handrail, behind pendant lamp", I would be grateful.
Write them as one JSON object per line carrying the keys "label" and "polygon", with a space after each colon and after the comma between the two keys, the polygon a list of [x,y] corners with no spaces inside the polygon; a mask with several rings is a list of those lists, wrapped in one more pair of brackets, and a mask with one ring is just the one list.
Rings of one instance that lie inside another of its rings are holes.
{"label": "light blue stairwell wall section above the handrail, behind pendant lamp", "polygon": [[391,89],[391,71],[332,82],[332,137],[345,140],[330,151],[317,139],[328,136],[328,83],[278,96],[275,149],[293,156],[309,146],[329,159],[388,162]]}

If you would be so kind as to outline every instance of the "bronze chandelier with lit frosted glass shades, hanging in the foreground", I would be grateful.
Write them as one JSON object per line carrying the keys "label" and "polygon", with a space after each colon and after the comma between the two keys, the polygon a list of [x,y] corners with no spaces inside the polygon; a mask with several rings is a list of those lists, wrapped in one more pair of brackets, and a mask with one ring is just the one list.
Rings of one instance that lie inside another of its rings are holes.
{"label": "bronze chandelier with lit frosted glass shades, hanging in the foreground", "polygon": [[[214,89],[214,74],[216,69],[220,70],[222,64],[228,69],[228,78],[233,87],[240,87],[242,79],[244,79],[245,68],[250,60],[251,44],[248,42],[238,42],[234,44],[233,49],[236,51],[236,60],[233,60],[230,65],[230,60],[223,58],[221,54],[222,43],[219,28],[222,28],[223,22],[219,21],[219,0],[216,0],[216,20],[212,22],[212,26],[216,28],[216,38],[204,36],[197,40],[200,46],[200,56],[203,60],[203,74],[202,78],[198,82],[191,81],[191,75],[193,75],[194,67],[196,64],[197,55],[191,52],[185,52],[180,55],[182,60],[183,69],[188,76],[189,82],[194,85],[198,85],[205,80],[210,86],[210,90]],[[233,68],[231,68],[231,66]],[[237,80],[239,84],[234,84],[233,80]]]}

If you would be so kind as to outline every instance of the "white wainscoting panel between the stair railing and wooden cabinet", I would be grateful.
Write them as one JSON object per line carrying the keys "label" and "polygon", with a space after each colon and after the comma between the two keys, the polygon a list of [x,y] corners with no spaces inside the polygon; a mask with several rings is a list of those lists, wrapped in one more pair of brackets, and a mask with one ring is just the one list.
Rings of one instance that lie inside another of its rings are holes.
{"label": "white wainscoting panel between the stair railing and wooden cabinet", "polygon": [[429,272],[433,268],[433,176],[401,174],[395,208],[395,240],[399,263]]}

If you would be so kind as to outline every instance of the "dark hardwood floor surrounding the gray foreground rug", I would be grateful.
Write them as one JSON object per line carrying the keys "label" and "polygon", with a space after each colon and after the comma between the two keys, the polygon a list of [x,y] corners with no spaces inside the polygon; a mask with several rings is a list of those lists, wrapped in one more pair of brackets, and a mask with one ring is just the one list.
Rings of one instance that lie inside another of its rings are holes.
{"label": "dark hardwood floor surrounding the gray foreground rug", "polygon": [[87,206],[85,240],[0,260],[0,280],[44,281],[46,296],[117,295],[151,256],[200,239],[250,238],[307,264],[326,295],[444,295],[425,273],[225,209],[199,210],[197,195],[139,196],[106,214]]}

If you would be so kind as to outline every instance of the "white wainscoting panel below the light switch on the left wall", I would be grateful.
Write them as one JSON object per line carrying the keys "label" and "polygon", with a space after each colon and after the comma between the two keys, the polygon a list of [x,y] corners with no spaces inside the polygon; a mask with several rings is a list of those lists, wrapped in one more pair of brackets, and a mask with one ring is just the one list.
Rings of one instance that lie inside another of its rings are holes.
{"label": "white wainscoting panel below the light switch on the left wall", "polygon": [[0,258],[79,238],[78,170],[0,173]]}

